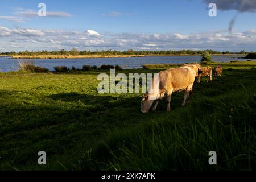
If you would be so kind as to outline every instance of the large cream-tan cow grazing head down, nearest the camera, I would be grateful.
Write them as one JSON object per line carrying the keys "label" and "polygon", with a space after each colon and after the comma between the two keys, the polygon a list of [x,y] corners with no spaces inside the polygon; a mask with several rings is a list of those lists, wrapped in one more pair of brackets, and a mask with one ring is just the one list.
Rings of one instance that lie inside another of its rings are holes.
{"label": "large cream-tan cow grazing head down, nearest the camera", "polygon": [[185,105],[185,101],[192,92],[193,83],[195,81],[196,73],[192,68],[171,68],[166,71],[159,72],[154,76],[151,82],[151,87],[148,93],[143,96],[141,101],[142,113],[147,113],[150,110],[153,102],[156,100],[153,107],[153,111],[156,110],[158,102],[164,96],[167,101],[167,111],[170,111],[171,95],[174,92],[182,92],[185,90],[184,100],[182,106]]}

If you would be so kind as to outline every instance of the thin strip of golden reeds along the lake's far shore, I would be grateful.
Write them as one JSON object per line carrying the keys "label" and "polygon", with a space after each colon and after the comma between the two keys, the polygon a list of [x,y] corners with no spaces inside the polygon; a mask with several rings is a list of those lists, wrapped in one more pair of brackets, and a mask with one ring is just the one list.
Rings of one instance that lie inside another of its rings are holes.
{"label": "thin strip of golden reeds along the lake's far shore", "polygon": [[[90,59],[90,58],[118,58],[118,57],[146,57],[146,56],[201,56],[201,55],[0,55],[13,59]],[[242,56],[237,54],[213,54],[211,56]]]}

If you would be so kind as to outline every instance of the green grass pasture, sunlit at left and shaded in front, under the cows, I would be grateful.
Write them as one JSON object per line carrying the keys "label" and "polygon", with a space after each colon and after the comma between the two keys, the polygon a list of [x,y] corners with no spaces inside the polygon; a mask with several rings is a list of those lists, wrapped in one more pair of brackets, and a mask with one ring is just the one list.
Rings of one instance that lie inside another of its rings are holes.
{"label": "green grass pasture, sunlit at left and shaded in front, under the cows", "polygon": [[185,107],[175,93],[170,113],[162,101],[148,114],[140,94],[98,94],[100,71],[2,73],[0,169],[256,169],[256,69],[234,68],[195,84]]}

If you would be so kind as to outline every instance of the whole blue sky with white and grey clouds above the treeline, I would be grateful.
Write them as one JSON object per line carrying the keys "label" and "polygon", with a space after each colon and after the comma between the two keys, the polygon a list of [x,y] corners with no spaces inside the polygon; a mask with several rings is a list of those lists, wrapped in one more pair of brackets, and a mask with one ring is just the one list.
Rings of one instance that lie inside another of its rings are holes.
{"label": "whole blue sky with white and grey clouds above the treeline", "polygon": [[[46,16],[38,16],[39,3]],[[216,3],[217,16],[209,16]],[[0,52],[256,51],[256,0],[1,0]]]}

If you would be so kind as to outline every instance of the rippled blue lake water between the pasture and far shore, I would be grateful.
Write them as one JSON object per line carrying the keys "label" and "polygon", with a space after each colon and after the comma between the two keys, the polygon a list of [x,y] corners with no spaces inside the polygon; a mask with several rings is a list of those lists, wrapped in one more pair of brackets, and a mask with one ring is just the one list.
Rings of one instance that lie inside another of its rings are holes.
{"label": "rippled blue lake water between the pasture and far shore", "polygon": [[[246,61],[247,59],[238,59],[241,55],[221,55],[212,56],[215,62],[229,62],[230,60]],[[117,58],[93,58],[93,59],[33,59],[36,65],[48,68],[54,71],[54,67],[64,65],[68,68],[72,66],[82,68],[83,65],[96,65],[100,67],[102,64],[120,65],[124,69],[142,68],[143,64],[165,64],[165,63],[191,63],[199,62],[201,56],[146,56],[146,57],[117,57]],[[10,57],[0,57],[0,71],[9,72],[19,69],[18,61],[26,59],[12,59]]]}

